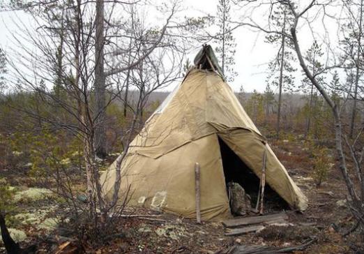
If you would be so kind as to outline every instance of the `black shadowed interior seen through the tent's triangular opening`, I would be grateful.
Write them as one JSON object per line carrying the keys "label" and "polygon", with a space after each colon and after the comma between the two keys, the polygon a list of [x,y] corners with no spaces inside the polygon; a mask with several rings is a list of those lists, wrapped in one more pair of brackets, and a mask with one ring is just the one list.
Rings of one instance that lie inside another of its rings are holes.
{"label": "black shadowed interior seen through the tent's triangular opening", "polygon": [[[245,193],[250,195],[252,208],[257,204],[260,179],[245,163],[218,137],[225,185],[230,181],[240,184]],[[289,209],[289,205],[266,183],[264,191],[264,211],[266,213]]]}

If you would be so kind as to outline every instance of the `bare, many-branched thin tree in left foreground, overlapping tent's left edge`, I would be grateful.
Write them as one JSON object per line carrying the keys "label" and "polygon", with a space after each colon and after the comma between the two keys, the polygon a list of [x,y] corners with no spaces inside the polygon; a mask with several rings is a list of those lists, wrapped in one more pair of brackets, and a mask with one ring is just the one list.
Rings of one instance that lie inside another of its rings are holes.
{"label": "bare, many-branched thin tree in left foreground, overlapping tent's left edge", "polygon": [[[105,227],[105,223],[109,221],[109,211],[116,205],[116,202],[105,200],[103,186],[100,183],[100,168],[96,159],[97,136],[100,124],[105,124],[105,119],[100,119],[103,115],[100,112],[105,112],[107,105],[121,98],[125,87],[125,82],[122,80],[123,72],[130,70],[134,72],[137,66],[145,62],[151,62],[151,68],[161,71],[160,66],[151,61],[151,54],[158,48],[167,50],[169,45],[172,45],[165,38],[167,32],[172,33],[176,28],[171,25],[177,12],[176,3],[172,3],[172,6],[165,6],[163,10],[167,12],[167,18],[162,27],[154,26],[153,29],[143,27],[142,33],[147,33],[149,36],[135,36],[134,31],[124,30],[125,27],[115,24],[113,20],[114,10],[120,10],[122,5],[123,3],[113,2],[107,9],[107,15],[103,15],[102,1],[97,1],[96,5],[81,0],[58,1],[52,5],[37,6],[40,10],[31,7],[33,9],[29,8],[29,13],[37,27],[26,26],[17,20],[19,33],[13,34],[17,48],[13,51],[12,61],[9,61],[14,86],[20,91],[37,94],[39,96],[37,103],[42,103],[47,112],[26,107],[20,110],[37,119],[40,122],[39,128],[48,126],[47,128],[53,130],[66,130],[82,140],[87,191],[87,206],[84,207],[84,211],[89,214],[95,232],[98,232],[99,227],[101,229]],[[128,15],[128,12],[123,14]],[[128,17],[125,19],[128,20]],[[109,29],[106,37],[103,20],[107,24],[106,29]],[[115,38],[122,40],[116,41]],[[131,48],[130,38],[135,42]],[[27,43],[23,43],[24,40]],[[105,48],[105,41],[113,47]],[[130,54],[132,61],[129,63],[119,61],[116,55],[121,54]],[[106,57],[114,58],[114,64],[104,66]],[[180,65],[180,62],[176,62],[173,67]],[[175,74],[172,71],[170,79],[158,80],[158,84],[160,86],[169,84],[176,77]],[[160,79],[159,76],[156,77]],[[147,95],[157,88],[153,87],[150,91],[142,89],[141,96],[137,100],[136,112],[140,112],[145,105]],[[98,89],[100,91],[96,93]],[[103,102],[98,104],[99,100]],[[64,115],[67,117],[63,117]],[[137,115],[135,119],[136,117]],[[126,143],[130,142],[135,126],[135,121],[132,121],[130,130],[124,137]],[[123,154],[127,151],[126,146]],[[64,177],[65,174],[59,174],[60,172],[62,171],[56,170],[57,178]],[[115,186],[115,189],[119,190],[117,181]],[[65,197],[75,200],[75,193],[70,191],[68,186],[63,186],[60,191]],[[70,193],[65,193],[66,191]]]}

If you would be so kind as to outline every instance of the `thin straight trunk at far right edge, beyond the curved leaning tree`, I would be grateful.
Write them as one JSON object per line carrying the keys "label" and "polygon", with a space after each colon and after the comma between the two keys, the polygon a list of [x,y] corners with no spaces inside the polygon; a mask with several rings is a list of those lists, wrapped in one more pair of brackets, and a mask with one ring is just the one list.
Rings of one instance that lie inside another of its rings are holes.
{"label": "thin straight trunk at far right edge, beyond the curved leaning tree", "polygon": [[350,121],[350,138],[354,135],[355,118],[356,118],[356,100],[358,96],[358,83],[359,83],[359,63],[360,63],[360,52],[361,52],[361,35],[362,35],[362,20],[363,20],[363,0],[361,0],[361,14],[359,20],[359,35],[358,35],[358,52],[356,56],[356,75],[355,75],[355,88],[354,88],[354,103],[351,110],[351,121]]}

